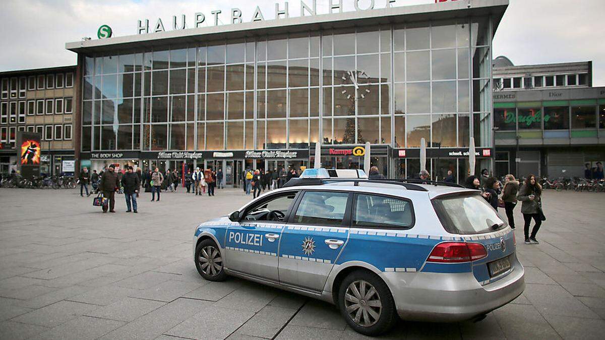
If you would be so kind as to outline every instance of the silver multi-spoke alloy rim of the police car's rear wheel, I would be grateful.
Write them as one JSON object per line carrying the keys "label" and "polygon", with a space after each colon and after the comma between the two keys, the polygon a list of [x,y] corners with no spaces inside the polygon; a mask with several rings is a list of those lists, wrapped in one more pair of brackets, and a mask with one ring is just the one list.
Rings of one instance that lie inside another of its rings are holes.
{"label": "silver multi-spoke alloy rim of the police car's rear wheel", "polygon": [[353,281],[344,293],[344,307],[349,318],[361,327],[370,327],[380,319],[382,301],[368,281]]}

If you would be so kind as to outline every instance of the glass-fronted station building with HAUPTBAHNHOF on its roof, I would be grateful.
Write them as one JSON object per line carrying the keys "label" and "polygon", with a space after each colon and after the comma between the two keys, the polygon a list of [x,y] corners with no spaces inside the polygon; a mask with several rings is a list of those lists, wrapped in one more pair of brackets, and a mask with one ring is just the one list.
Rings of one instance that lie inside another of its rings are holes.
{"label": "glass-fronted station building with HAUPTBAHNHOF on its roof", "polygon": [[142,19],[140,34],[68,43],[80,165],[223,168],[237,185],[246,168],[312,165],[320,141],[324,166],[362,168],[352,149],[368,141],[381,172],[413,177],[424,138],[427,169],[462,179],[474,136],[477,168],[491,167],[491,45],[507,0],[302,4],[304,16],[240,23],[234,11],[234,24],[188,29],[175,16],[174,30]]}

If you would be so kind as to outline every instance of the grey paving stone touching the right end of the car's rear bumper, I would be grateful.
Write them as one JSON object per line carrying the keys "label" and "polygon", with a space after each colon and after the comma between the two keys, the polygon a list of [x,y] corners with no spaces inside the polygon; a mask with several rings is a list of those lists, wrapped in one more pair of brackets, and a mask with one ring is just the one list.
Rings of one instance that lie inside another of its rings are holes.
{"label": "grey paving stone touching the right end of the car's rear bumper", "polygon": [[[599,318],[592,310],[584,306],[561,286],[550,284],[526,284],[523,295],[528,298],[540,313],[563,316]],[[518,306],[518,305],[517,305]]]}

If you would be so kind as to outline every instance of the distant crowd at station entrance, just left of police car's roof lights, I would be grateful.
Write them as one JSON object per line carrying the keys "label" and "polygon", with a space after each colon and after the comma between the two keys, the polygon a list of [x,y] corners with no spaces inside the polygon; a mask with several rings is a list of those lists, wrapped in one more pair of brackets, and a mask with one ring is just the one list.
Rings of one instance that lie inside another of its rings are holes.
{"label": "distant crowd at station entrance, just left of police car's roof lights", "polygon": [[285,168],[281,168],[279,171],[277,169],[264,171],[264,169],[248,168],[241,173],[241,180],[244,183],[243,189],[246,195],[250,195],[252,192],[253,197],[257,198],[261,192],[281,188],[290,178],[299,177],[299,175],[300,172],[292,168],[287,171]]}

